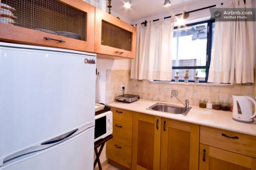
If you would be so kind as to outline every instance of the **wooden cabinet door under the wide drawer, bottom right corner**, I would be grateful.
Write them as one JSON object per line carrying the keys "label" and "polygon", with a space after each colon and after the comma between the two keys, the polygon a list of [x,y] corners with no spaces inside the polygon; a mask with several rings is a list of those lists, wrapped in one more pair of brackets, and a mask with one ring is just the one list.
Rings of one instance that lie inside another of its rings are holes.
{"label": "wooden cabinet door under the wide drawer, bottom right corner", "polygon": [[200,170],[255,170],[256,159],[200,144]]}

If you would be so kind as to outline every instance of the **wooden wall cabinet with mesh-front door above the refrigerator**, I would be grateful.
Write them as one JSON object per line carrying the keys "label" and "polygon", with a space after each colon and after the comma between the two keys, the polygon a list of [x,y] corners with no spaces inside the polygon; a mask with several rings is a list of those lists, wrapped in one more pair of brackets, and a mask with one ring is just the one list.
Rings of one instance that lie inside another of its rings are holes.
{"label": "wooden wall cabinet with mesh-front door above the refrigerator", "polygon": [[0,2],[16,9],[17,22],[0,23],[1,41],[94,52],[95,7],[81,0]]}

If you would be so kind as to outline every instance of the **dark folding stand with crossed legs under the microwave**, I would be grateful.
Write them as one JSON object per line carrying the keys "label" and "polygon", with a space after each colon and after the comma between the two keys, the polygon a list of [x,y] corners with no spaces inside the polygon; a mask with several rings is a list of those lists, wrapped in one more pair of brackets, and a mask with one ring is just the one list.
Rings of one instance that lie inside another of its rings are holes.
{"label": "dark folding stand with crossed legs under the microwave", "polygon": [[[113,135],[106,136],[105,138],[99,139],[98,141],[94,142],[94,151],[95,151],[95,155],[96,155],[96,159],[94,161],[94,168],[95,168],[96,164],[98,163],[99,170],[102,170],[99,157],[103,150],[105,142],[110,140],[111,138],[113,138]],[[98,147],[100,147],[99,151],[97,150]]]}

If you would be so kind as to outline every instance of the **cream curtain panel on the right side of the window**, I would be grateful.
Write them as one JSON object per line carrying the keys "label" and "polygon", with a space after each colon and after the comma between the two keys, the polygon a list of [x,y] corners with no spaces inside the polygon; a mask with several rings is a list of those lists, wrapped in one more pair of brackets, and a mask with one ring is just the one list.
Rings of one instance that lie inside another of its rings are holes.
{"label": "cream curtain panel on the right side of the window", "polygon": [[[229,0],[221,8],[251,8],[251,0]],[[252,21],[216,21],[208,82],[254,83]]]}

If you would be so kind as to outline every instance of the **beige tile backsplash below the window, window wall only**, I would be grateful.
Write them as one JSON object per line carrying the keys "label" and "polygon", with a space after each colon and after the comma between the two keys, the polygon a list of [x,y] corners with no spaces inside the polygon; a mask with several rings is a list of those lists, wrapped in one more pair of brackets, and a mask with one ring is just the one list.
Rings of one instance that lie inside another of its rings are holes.
{"label": "beige tile backsplash below the window, window wall only", "polygon": [[253,86],[242,85],[183,84],[131,80],[130,86],[130,93],[140,95],[141,99],[172,103],[179,103],[177,99],[170,98],[172,90],[178,90],[178,98],[181,101],[188,99],[189,104],[195,106],[198,106],[200,99],[231,102],[232,95],[253,95]]}

